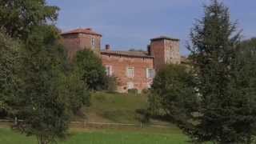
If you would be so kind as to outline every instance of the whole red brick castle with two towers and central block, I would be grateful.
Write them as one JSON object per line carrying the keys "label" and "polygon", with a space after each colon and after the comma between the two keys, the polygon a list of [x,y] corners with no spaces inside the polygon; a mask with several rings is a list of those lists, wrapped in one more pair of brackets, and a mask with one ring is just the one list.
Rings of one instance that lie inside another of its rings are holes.
{"label": "whole red brick castle with two towers and central block", "polygon": [[106,45],[102,50],[102,34],[92,29],[76,29],[62,33],[63,43],[69,58],[78,50],[90,49],[102,58],[106,74],[115,76],[118,92],[147,89],[153,82],[154,74],[165,64],[180,64],[179,39],[161,36],[150,39],[147,51],[116,51]]}

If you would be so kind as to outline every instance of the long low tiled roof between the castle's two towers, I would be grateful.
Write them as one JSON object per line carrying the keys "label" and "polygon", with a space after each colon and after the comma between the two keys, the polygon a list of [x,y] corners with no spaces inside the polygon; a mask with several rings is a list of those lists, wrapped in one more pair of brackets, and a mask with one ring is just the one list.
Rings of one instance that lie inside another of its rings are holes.
{"label": "long low tiled roof between the castle's two towers", "polygon": [[149,55],[147,51],[102,50],[101,54],[113,54],[113,55],[122,55],[122,56],[128,56],[128,57],[140,57],[140,58],[154,58],[152,55]]}

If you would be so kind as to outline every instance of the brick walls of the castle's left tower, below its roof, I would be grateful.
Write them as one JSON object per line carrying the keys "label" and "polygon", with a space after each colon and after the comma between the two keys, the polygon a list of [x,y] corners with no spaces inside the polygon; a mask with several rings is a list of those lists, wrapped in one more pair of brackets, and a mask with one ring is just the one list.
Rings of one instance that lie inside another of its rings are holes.
{"label": "brick walls of the castle's left tower, below its roof", "polygon": [[[95,46],[91,45],[92,38],[95,39]],[[101,37],[93,34],[64,34],[62,35],[62,43],[65,46],[68,57],[73,58],[78,50],[91,49],[96,54],[100,54]]]}

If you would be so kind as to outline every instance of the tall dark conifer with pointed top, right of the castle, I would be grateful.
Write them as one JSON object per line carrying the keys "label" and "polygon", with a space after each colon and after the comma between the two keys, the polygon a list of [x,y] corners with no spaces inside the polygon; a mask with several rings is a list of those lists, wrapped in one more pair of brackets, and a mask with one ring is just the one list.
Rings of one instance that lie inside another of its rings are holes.
{"label": "tall dark conifer with pointed top, right of the castle", "polygon": [[240,34],[235,31],[229,9],[213,0],[190,34],[200,107],[194,126],[184,130],[196,142],[250,143],[254,136],[254,66],[238,58]]}

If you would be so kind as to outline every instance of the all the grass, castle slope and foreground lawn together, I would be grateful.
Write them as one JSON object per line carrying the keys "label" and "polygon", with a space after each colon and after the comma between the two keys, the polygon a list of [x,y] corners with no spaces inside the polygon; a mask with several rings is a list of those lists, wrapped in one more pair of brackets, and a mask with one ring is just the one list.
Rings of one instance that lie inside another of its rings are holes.
{"label": "all the grass, castle slope and foreground lawn together", "polygon": [[[91,106],[83,108],[82,113],[86,115],[89,122],[120,122],[139,123],[138,109],[146,109],[147,98],[142,94],[108,94],[97,92],[92,94]],[[74,120],[82,121],[82,117]],[[166,122],[154,121],[157,124],[168,124]],[[81,125],[71,126],[66,141],[63,144],[183,144],[188,138],[182,134],[178,127],[168,124],[166,127],[153,126],[93,126],[83,127]],[[36,138],[26,137],[10,130],[10,127],[0,124],[0,143],[5,144],[32,144]]]}

